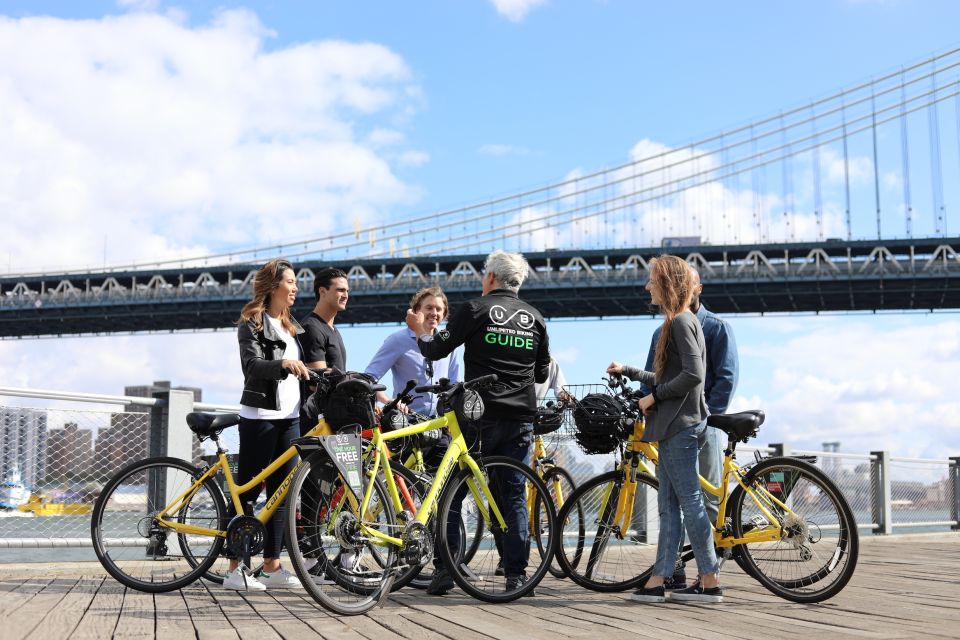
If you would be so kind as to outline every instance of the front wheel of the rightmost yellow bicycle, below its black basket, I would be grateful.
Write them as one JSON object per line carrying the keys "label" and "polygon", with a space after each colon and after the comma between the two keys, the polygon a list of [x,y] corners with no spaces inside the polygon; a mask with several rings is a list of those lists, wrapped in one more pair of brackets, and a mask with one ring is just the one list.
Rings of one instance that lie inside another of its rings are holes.
{"label": "front wheel of the rightmost yellow bicycle, below its black basket", "polygon": [[[638,587],[653,572],[660,515],[653,476],[637,474],[637,497],[626,532],[613,522],[624,472],[608,471],[580,485],[557,516],[556,557],[578,585],[603,593]],[[642,500],[641,510],[636,506]],[[583,532],[583,533],[581,533]]]}

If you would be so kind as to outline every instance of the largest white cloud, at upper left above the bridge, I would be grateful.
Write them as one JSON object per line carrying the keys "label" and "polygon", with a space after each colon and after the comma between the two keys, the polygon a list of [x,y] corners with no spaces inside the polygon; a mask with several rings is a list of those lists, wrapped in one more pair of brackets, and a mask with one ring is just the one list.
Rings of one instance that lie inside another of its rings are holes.
{"label": "largest white cloud, at upper left above the bridge", "polygon": [[418,196],[392,163],[428,156],[377,124],[419,98],[386,47],[271,49],[246,10],[191,27],[124,6],[0,17],[0,261],[14,271],[321,235]]}

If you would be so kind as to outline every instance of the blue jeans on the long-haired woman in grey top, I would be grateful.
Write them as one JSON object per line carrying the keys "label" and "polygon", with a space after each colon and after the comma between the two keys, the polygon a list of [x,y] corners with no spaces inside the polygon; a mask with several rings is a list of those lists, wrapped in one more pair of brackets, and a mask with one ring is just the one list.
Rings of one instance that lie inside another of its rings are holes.
{"label": "blue jeans on the long-haired woman in grey top", "polygon": [[719,570],[713,550],[713,527],[703,506],[703,492],[697,478],[699,439],[706,428],[704,422],[660,441],[657,468],[660,536],[653,575],[665,578],[673,575],[684,528],[693,545],[699,575]]}

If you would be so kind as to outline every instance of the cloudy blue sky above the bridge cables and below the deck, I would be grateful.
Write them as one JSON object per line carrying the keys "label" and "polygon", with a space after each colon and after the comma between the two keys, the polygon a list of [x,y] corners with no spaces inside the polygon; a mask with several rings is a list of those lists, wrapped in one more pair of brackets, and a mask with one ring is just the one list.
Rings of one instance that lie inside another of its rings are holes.
{"label": "cloudy blue sky above the bridge cables and below the deck", "polygon": [[[478,202],[896,70],[957,46],[957,24],[960,3],[907,0],[0,2],[0,266],[202,254],[322,235],[336,214],[316,211]],[[767,409],[767,441],[960,453],[956,316],[730,320],[734,406]],[[654,326],[551,334],[571,382],[592,382],[640,362]],[[350,365],[389,330],[345,329]],[[3,342],[0,374],[98,393],[172,379],[232,403],[234,349],[229,332]]]}

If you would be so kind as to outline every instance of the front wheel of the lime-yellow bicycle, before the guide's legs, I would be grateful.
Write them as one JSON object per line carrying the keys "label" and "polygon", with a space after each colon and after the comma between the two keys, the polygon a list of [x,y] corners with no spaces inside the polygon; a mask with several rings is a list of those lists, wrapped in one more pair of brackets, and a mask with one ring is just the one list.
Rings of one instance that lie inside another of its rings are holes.
{"label": "front wheel of the lime-yellow bicycle, before the guide's legs", "polygon": [[[556,512],[547,487],[530,467],[512,458],[491,456],[483,459],[481,469],[493,502],[476,487],[473,474],[461,470],[444,490],[437,546],[450,575],[466,593],[486,602],[510,602],[532,591],[546,575],[557,539]],[[536,492],[535,502],[544,503],[541,528],[546,548],[542,551],[531,546],[535,536],[527,514],[529,490]],[[505,531],[493,524],[494,504],[506,521]],[[464,543],[468,549],[461,549]],[[512,579],[519,576],[523,579]]]}

